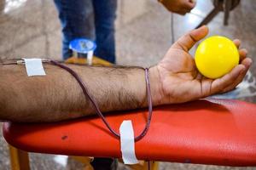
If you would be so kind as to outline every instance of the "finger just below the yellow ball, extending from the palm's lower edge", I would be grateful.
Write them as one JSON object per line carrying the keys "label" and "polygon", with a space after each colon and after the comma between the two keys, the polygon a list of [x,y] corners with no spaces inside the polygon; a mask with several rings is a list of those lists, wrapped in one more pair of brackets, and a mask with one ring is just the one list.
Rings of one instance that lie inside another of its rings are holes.
{"label": "finger just below the yellow ball, extending from the palm's lower edge", "polygon": [[241,74],[242,71],[245,71],[244,65],[236,65],[232,71],[220,77],[212,82],[211,94],[218,94],[222,92],[225,88],[229,87],[232,83],[236,81],[236,78]]}

